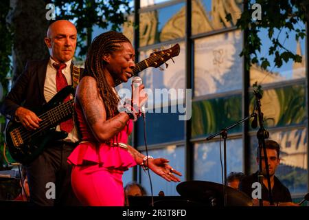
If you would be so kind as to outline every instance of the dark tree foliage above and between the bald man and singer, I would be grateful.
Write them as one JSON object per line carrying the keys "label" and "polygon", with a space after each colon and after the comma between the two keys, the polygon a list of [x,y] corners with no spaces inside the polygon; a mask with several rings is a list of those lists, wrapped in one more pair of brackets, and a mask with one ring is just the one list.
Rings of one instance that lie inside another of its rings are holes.
{"label": "dark tree foliage above and between the bald man and singer", "polygon": [[120,31],[121,25],[126,21],[126,14],[131,8],[128,0],[53,0],[56,5],[57,19],[74,21],[78,30],[79,56],[87,53],[91,43],[93,25],[106,29],[111,25],[111,30]]}

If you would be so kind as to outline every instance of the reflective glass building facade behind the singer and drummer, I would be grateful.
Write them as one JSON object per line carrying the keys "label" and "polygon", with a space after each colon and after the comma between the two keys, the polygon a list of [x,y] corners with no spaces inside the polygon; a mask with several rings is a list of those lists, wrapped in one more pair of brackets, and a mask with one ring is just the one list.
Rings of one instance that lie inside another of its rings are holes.
{"label": "reflective glass building facade behind the singer and drummer", "polygon": [[[244,59],[239,56],[246,35],[236,28],[242,12],[239,0],[193,1],[134,1],[137,29],[124,24],[124,34],[134,42],[137,61],[142,61],[153,50],[161,50],[178,43],[181,47],[174,62],[167,61],[164,70],[148,68],[139,76],[146,88],[192,89],[190,120],[179,120],[179,111],[172,113],[174,105],[187,104],[184,96],[164,100],[152,96],[146,114],[146,140],[148,155],[165,157],[183,173],[182,181],[203,180],[222,184],[223,142],[220,137],[206,141],[206,137],[247,117],[253,111],[253,84],[258,82],[264,90],[261,100],[264,126],[270,138],[281,146],[281,164],[277,177],[290,190],[293,199],[308,192],[308,76],[307,39],[295,41],[295,33],[279,40],[284,46],[302,56],[301,63],[289,61],[274,67],[273,57],[268,56],[271,41],[266,30],[260,31],[262,50],[258,56],[267,57],[269,69],[252,65],[248,72]],[[225,17],[231,13],[231,21]],[[297,23],[299,29],[306,24]],[[138,37],[137,37],[138,34]],[[276,33],[274,33],[276,34]],[[187,94],[188,96],[188,94]],[[187,109],[188,110],[188,109]],[[251,129],[251,121],[228,131],[227,173],[242,171],[247,175],[258,170],[256,152],[258,129]],[[132,144],[146,154],[144,122],[135,124]],[[221,149],[220,149],[221,148]],[[221,152],[221,153],[220,153]],[[165,181],[150,172],[153,195],[179,195],[175,183]],[[139,166],[124,175],[124,184],[138,181],[148,194],[148,173]]]}

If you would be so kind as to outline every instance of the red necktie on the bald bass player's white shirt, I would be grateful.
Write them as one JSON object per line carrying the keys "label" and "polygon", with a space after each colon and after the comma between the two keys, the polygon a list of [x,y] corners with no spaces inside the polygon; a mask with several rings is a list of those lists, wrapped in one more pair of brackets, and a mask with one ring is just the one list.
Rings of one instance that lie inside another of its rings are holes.
{"label": "red necktie on the bald bass player's white shirt", "polygon": [[[67,65],[65,63],[53,63],[53,67],[57,70],[56,73],[56,87],[57,92],[63,89],[64,87],[67,87],[67,79],[65,78],[65,75],[62,74],[62,69],[65,69]],[[70,96],[67,96],[65,98],[65,102],[70,99]],[[66,131],[67,133],[71,132],[73,129],[73,120],[72,118],[69,118],[65,122],[60,122],[60,130]]]}

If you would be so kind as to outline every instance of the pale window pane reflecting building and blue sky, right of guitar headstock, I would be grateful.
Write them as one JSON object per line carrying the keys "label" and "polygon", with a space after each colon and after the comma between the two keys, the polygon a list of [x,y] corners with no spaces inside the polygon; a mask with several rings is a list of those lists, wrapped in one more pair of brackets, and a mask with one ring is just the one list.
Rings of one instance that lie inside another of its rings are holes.
{"label": "pale window pane reflecting building and blue sky, right of guitar headstock", "polygon": [[242,32],[194,41],[194,96],[242,88]]}

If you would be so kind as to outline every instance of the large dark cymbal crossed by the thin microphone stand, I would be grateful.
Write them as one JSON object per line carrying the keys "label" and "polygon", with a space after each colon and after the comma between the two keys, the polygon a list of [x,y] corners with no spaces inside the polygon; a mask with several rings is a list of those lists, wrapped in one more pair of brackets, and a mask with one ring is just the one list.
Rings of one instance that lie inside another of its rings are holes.
{"label": "large dark cymbal crossed by the thin microphone stand", "polygon": [[[183,181],[176,186],[177,192],[183,197],[191,200],[204,201],[210,206],[224,205],[224,187],[211,181]],[[229,186],[226,186],[227,206],[252,206],[251,198]]]}

